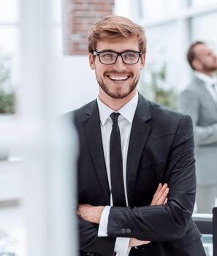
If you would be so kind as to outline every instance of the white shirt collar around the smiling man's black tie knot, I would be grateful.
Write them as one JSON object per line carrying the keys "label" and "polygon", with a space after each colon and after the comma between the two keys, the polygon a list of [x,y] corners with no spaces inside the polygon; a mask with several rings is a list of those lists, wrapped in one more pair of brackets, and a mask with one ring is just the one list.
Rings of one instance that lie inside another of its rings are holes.
{"label": "white shirt collar around the smiling man's black tie knot", "polygon": [[[125,105],[123,105],[122,108],[118,110],[118,113],[121,114],[124,118],[126,118],[131,124],[134,118],[134,113],[137,109],[137,103],[138,103],[138,92],[134,95],[134,97],[127,102]],[[99,108],[99,118],[101,121],[101,124],[104,125],[104,123],[107,121],[107,118],[109,118],[110,114],[114,112],[112,108],[109,108],[107,105],[105,105],[99,97],[97,97],[97,104]]]}

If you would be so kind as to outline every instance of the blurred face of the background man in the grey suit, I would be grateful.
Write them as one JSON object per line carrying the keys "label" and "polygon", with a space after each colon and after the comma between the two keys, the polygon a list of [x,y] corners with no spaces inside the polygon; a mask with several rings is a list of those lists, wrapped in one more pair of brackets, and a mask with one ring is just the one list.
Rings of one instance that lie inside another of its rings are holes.
{"label": "blurred face of the background man in the grey suit", "polygon": [[201,44],[194,48],[196,58],[193,62],[194,67],[200,72],[214,72],[217,69],[217,56],[208,45]]}

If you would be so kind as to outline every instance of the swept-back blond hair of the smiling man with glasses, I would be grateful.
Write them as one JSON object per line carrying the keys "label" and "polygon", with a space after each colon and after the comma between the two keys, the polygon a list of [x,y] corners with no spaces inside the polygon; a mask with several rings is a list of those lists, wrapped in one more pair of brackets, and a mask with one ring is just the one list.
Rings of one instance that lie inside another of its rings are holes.
{"label": "swept-back blond hair of the smiling man with glasses", "polygon": [[146,37],[142,26],[133,23],[129,18],[109,15],[94,24],[88,35],[88,50],[93,53],[96,43],[120,39],[137,38],[142,53],[146,52]]}

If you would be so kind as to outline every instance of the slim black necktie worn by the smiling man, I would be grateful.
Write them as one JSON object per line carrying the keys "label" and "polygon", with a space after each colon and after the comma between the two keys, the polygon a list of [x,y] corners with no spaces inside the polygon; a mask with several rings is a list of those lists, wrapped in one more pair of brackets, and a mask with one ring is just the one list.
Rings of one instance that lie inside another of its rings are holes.
{"label": "slim black necktie worn by the smiling man", "polygon": [[118,127],[120,113],[112,113],[113,129],[110,137],[110,172],[114,206],[126,206],[123,187],[123,162],[121,153],[121,135]]}

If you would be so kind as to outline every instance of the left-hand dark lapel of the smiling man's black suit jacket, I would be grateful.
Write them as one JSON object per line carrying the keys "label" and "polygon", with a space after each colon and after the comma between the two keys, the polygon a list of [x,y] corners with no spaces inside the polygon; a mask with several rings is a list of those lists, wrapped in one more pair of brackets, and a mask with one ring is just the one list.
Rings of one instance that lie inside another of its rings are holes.
{"label": "left-hand dark lapel of the smiling man's black suit jacket", "polygon": [[102,146],[102,135],[99,121],[99,109],[96,100],[86,113],[88,121],[85,124],[85,137],[88,148],[91,151],[91,157],[96,169],[96,175],[99,178],[99,184],[102,188],[107,205],[110,205],[110,189],[107,180],[107,170],[104,162],[104,152]]}

